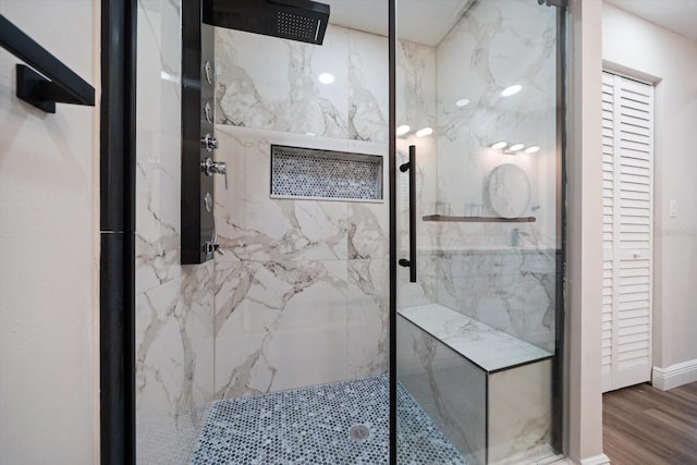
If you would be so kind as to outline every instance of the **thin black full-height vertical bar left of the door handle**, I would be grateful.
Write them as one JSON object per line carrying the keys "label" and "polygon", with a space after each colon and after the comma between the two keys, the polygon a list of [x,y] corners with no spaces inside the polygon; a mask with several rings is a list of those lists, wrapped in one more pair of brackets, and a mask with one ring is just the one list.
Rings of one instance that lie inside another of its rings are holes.
{"label": "thin black full-height vertical bar left of the door handle", "polygon": [[390,184],[390,465],[396,465],[396,0],[388,5],[389,184]]}

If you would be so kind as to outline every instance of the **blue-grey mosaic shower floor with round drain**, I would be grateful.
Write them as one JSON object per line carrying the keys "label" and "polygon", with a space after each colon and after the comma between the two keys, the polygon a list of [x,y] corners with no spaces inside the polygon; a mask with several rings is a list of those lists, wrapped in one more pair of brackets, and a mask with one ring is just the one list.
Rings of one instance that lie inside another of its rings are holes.
{"label": "blue-grey mosaic shower floor with round drain", "polygon": [[[400,464],[466,465],[399,387]],[[212,404],[193,465],[389,463],[389,378],[317,386]],[[350,429],[358,428],[352,437]]]}

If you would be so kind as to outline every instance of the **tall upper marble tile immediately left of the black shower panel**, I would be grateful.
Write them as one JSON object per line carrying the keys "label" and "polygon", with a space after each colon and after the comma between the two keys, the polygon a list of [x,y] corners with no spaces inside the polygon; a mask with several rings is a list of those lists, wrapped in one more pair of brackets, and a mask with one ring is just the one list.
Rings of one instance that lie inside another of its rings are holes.
{"label": "tall upper marble tile immediately left of the black shower panel", "polygon": [[138,2],[136,293],[181,274],[181,2]]}

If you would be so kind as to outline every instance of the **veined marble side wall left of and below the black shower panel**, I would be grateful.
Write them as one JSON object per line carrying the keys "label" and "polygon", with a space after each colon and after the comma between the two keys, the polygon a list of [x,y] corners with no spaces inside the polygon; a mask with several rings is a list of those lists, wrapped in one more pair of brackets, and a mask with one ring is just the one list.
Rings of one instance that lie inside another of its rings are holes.
{"label": "veined marble side wall left of and below the black shower panel", "polygon": [[[213,394],[213,264],[180,266],[181,1],[138,1],[136,168],[136,418],[145,429]],[[145,460],[145,458],[144,458]]]}

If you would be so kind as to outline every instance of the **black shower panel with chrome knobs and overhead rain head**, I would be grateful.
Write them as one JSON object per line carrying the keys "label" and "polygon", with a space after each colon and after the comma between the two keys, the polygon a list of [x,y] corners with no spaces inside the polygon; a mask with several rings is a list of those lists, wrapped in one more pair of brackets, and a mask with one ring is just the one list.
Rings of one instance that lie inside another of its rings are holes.
{"label": "black shower panel with chrome knobs and overhead rain head", "polygon": [[199,0],[182,2],[182,265],[204,264],[224,254],[218,244],[216,160],[215,26],[322,45],[329,5],[307,0]]}

